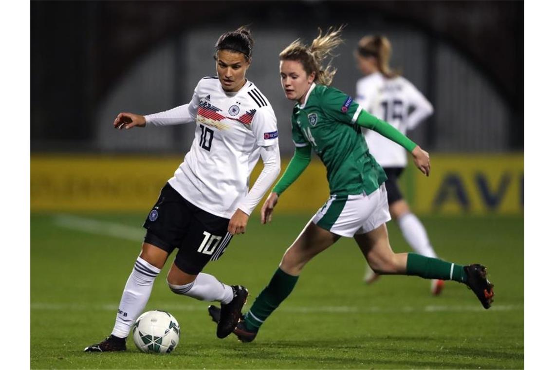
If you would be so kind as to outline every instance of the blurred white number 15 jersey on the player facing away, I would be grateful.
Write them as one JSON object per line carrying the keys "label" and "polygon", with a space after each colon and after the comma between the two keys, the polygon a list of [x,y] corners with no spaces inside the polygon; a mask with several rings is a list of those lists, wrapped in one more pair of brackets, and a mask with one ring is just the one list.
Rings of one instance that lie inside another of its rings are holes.
{"label": "blurred white number 15 jersey on the player facing away", "polygon": [[[356,95],[362,108],[403,134],[433,113],[432,104],[403,77],[387,79],[379,72],[372,73],[357,81]],[[370,153],[382,167],[407,165],[407,154],[401,145],[366,128],[362,128],[362,133]]]}

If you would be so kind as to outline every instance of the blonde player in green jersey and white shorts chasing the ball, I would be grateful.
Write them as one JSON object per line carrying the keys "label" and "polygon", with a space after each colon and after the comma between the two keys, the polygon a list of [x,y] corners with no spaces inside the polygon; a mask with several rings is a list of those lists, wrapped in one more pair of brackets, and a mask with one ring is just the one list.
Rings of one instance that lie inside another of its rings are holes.
{"label": "blonde player in green jersey and white shorts chasing the ball", "polygon": [[[387,122],[367,113],[340,90],[330,87],[335,70],[322,67],[322,59],[341,43],[339,30],[330,30],[310,47],[296,40],[280,57],[281,84],[287,99],[296,102],[291,116],[295,154],[262,209],[262,222],[271,221],[279,195],[310,162],[314,149],[327,169],[330,198],[312,217],[287,249],[268,286],[233,331],[250,342],[266,318],[293,290],[302,268],[312,257],[341,236],[354,237],[369,265],[377,272],[416,275],[465,283],[489,308],[493,285],[481,265],[455,263],[413,253],[394,253],[385,222],[391,219],[387,206],[384,170],[369,153],[361,127],[375,130],[412,154],[416,167],[430,173],[428,154]],[[336,273],[334,271],[334,273]],[[219,308],[209,313],[219,321]]]}

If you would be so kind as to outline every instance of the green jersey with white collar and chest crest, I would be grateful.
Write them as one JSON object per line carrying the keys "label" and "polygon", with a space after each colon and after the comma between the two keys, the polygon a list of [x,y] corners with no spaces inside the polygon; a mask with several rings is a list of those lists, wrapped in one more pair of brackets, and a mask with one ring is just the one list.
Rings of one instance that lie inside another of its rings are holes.
{"label": "green jersey with white collar and chest crest", "polygon": [[312,146],[326,166],[330,194],[370,194],[387,179],[356,124],[361,109],[349,95],[319,84],[293,108],[295,146]]}

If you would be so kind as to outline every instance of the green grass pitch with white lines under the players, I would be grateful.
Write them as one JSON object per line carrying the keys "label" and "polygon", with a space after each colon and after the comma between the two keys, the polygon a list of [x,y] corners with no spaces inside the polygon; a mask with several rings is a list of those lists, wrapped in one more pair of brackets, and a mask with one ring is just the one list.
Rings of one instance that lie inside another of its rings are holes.
{"label": "green grass pitch with white lines under the players", "polygon": [[[251,217],[220,261],[205,272],[241,283],[251,296],[268,283],[310,215]],[[523,217],[422,217],[445,260],[488,267],[495,302],[483,310],[465,286],[447,282],[439,297],[419,277],[362,283],[364,260],[342,238],[305,267],[290,297],[252,343],[218,339],[208,302],[171,293],[170,263],[146,310],[171,312],[181,339],[169,355],[84,353],[107,336],[140,249],[144,215],[31,216],[31,368],[523,368]],[[388,224],[395,251],[408,251]],[[136,241],[133,241],[136,236]],[[170,256],[169,262],[173,260]]]}

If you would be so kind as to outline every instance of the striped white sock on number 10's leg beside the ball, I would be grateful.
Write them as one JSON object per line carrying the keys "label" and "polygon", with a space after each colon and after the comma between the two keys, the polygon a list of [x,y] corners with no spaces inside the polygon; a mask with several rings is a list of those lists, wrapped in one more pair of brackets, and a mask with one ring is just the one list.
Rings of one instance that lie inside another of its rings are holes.
{"label": "striped white sock on number 10's leg beside the ball", "polygon": [[119,302],[118,314],[115,316],[115,325],[112,331],[114,336],[126,338],[129,335],[133,323],[147,305],[154,279],[159,273],[158,267],[137,257],[133,271],[125,284],[122,300]]}

